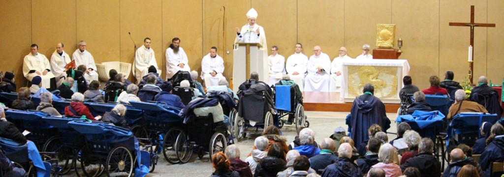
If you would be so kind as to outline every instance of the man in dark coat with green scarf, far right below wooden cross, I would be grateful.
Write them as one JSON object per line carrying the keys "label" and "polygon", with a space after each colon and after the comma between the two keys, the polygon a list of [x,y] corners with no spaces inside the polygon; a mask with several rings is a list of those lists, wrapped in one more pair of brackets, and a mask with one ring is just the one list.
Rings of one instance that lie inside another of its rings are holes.
{"label": "man in dark coat with green scarf, far right below wooden cross", "polygon": [[492,87],[488,86],[488,81],[485,76],[479,77],[479,85],[474,87],[471,91],[469,100],[483,105],[490,114],[502,114],[502,107],[500,107],[500,98]]}

